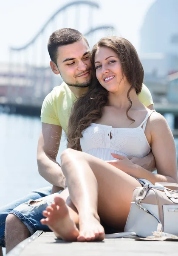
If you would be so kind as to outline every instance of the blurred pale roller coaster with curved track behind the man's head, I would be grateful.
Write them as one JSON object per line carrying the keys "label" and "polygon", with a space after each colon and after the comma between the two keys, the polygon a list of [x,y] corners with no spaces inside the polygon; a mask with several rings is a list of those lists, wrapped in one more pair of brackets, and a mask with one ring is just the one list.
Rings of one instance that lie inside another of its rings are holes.
{"label": "blurred pale roller coaster with curved track behind the man's head", "polygon": [[[89,16],[86,15],[86,13],[83,15],[83,13],[79,11],[81,5],[86,6]],[[47,63],[45,62],[45,56],[48,52],[47,50],[44,50],[46,45],[42,36],[45,36],[46,31],[49,29],[52,33],[55,29],[65,27],[65,24],[68,24],[66,17],[68,17],[68,13],[71,11],[69,10],[68,12],[68,9],[71,8],[71,6],[75,7],[75,9],[72,8],[72,13],[74,10],[75,14],[73,13],[74,15],[71,17],[74,18],[74,21],[77,21],[76,26],[73,27],[73,23],[71,26],[75,29],[79,29],[79,22],[81,22],[84,17],[84,22],[86,24],[84,26],[85,31],[83,34],[91,44],[93,44],[93,41],[96,42],[96,40],[105,36],[107,32],[115,30],[113,26],[107,24],[95,27],[92,26],[94,16],[93,10],[100,8],[98,3],[89,0],[74,0],[71,3],[65,4],[44,23],[41,29],[39,29],[36,35],[29,40],[27,44],[22,47],[10,47],[10,75],[8,76],[8,79],[6,79],[7,84],[5,85],[5,93],[3,94],[6,96],[7,102],[15,105],[17,105],[17,102],[18,104],[23,105],[41,105],[46,94],[49,93],[54,86],[59,85],[60,79],[55,79],[54,74],[48,72],[50,68],[46,66]],[[65,16],[66,10],[67,16]],[[86,16],[89,17],[89,20],[85,20]],[[54,28],[54,26],[51,26],[53,25],[52,23],[57,25],[56,21],[61,18],[62,21],[64,20],[64,22],[62,22],[63,25],[59,23],[59,27],[56,26]],[[99,38],[99,36],[101,37]],[[90,46],[92,47],[92,45]],[[37,53],[39,54],[37,55]]]}

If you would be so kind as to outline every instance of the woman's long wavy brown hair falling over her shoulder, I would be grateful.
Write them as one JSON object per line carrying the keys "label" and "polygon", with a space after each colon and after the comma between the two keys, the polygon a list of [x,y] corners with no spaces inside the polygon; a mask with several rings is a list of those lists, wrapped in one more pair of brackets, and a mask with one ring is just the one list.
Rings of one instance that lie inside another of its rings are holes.
{"label": "woman's long wavy brown hair falling over her shoulder", "polygon": [[95,53],[99,47],[109,47],[119,56],[123,77],[125,76],[130,84],[130,89],[127,93],[128,101],[130,102],[127,108],[127,117],[129,109],[132,107],[130,99],[130,91],[135,88],[136,93],[141,92],[142,83],[144,79],[144,70],[141,61],[138,57],[136,49],[125,38],[112,36],[109,38],[102,38],[94,45],[91,52],[91,61],[93,67],[93,79],[91,81],[89,90],[74,102],[71,116],[68,123],[68,142],[71,148],[80,150],[80,138],[82,138],[82,131],[84,131],[91,122],[95,122],[101,118],[102,110],[107,104],[108,91],[102,87],[96,79],[96,69],[94,66]]}

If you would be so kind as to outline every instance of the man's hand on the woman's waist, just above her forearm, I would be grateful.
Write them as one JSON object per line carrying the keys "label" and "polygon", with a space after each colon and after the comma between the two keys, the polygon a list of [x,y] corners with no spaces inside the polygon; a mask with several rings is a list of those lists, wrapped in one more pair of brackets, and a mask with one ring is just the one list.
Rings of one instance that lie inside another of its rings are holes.
{"label": "man's hand on the woman's waist, just above her forearm", "polygon": [[132,163],[137,164],[138,166],[143,167],[147,171],[153,172],[156,168],[155,157],[153,153],[150,152],[146,157],[128,157]]}

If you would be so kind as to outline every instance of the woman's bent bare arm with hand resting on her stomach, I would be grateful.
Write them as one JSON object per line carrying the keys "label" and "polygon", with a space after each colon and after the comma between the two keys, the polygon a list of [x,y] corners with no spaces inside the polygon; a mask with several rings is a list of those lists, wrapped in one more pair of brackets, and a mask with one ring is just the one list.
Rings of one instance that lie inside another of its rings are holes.
{"label": "woman's bent bare arm with hand resting on her stomach", "polygon": [[119,161],[108,161],[113,166],[121,169],[136,178],[144,178],[155,182],[178,183],[178,169],[174,138],[167,124],[166,119],[161,114],[154,112],[149,120],[151,131],[151,148],[155,157],[157,174],[131,163],[127,157],[113,154]]}

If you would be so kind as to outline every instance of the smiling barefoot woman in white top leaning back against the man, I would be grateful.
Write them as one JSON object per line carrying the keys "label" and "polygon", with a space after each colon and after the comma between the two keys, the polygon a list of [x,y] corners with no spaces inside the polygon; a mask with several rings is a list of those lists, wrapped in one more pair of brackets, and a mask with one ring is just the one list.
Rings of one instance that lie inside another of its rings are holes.
{"label": "smiling barefoot woman in white top leaning back against the man", "polygon": [[[103,240],[100,218],[123,229],[133,189],[141,186],[139,179],[178,182],[170,128],[163,116],[145,108],[137,97],[144,71],[133,45],[124,38],[102,38],[91,57],[93,83],[73,105],[71,149],[61,154],[68,189],[56,196],[44,212],[47,218],[41,220],[67,241]],[[144,157],[150,150],[158,174],[127,158]]]}

